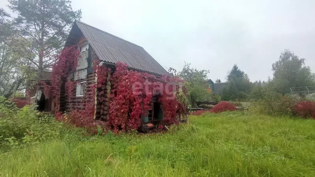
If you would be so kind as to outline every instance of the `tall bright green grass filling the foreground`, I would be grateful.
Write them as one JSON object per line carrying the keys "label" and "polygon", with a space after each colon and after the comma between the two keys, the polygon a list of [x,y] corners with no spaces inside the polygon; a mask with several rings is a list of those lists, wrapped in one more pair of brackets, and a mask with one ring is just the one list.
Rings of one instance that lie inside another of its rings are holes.
{"label": "tall bright green grass filling the foreground", "polygon": [[169,133],[42,142],[0,154],[0,176],[314,176],[315,120],[192,116]]}

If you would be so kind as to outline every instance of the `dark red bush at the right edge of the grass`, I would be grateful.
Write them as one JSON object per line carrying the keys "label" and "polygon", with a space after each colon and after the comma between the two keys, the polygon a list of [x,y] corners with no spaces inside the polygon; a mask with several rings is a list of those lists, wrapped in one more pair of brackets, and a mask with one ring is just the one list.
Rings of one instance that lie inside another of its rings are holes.
{"label": "dark red bush at the right edge of the grass", "polygon": [[303,101],[298,102],[294,106],[294,112],[303,118],[313,118],[315,119],[315,102]]}

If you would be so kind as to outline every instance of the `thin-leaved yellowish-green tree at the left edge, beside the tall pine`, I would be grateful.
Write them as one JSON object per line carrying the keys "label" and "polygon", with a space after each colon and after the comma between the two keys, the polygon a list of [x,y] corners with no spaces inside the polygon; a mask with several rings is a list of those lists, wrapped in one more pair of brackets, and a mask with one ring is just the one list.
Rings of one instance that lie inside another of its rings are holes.
{"label": "thin-leaved yellowish-green tree at the left edge, beside the tall pine", "polygon": [[0,8],[0,95],[14,97],[23,90],[31,78],[29,59],[30,43],[16,34],[8,19],[10,16]]}

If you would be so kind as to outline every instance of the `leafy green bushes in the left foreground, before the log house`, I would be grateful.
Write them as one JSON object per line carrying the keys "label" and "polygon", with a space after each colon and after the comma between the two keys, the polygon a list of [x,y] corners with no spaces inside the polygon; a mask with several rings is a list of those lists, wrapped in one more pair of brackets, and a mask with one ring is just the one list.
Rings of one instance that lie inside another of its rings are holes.
{"label": "leafy green bushes in the left foreground, before the log house", "polygon": [[54,139],[69,131],[53,115],[35,111],[33,106],[19,109],[3,97],[0,100],[0,151]]}

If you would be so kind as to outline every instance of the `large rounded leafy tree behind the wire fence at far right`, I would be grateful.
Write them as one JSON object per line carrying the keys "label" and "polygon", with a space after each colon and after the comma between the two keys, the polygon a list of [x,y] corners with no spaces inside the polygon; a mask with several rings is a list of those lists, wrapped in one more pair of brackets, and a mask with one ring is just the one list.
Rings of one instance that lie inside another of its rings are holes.
{"label": "large rounded leafy tree behind the wire fence at far right", "polygon": [[272,64],[272,82],[275,91],[284,95],[290,92],[290,87],[314,86],[315,75],[304,62],[304,58],[299,58],[293,52],[284,50],[279,60]]}

